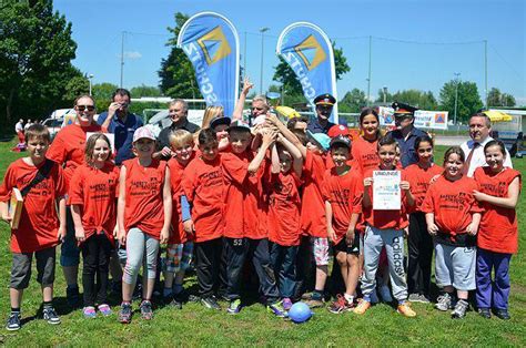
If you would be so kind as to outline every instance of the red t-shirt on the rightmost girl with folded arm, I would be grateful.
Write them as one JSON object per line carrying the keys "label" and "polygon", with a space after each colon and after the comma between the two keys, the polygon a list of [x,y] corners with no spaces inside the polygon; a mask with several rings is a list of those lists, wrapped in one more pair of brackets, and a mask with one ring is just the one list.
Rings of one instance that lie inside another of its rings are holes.
{"label": "red t-shirt on the rightmost girl with folded arm", "polygon": [[[474,176],[481,192],[495,196],[507,197],[508,187],[518,177],[522,187],[520,172],[505,167],[494,174],[489,167],[476,168]],[[481,203],[484,208],[478,228],[477,246],[495,253],[515,254],[518,249],[517,214],[515,209]]]}

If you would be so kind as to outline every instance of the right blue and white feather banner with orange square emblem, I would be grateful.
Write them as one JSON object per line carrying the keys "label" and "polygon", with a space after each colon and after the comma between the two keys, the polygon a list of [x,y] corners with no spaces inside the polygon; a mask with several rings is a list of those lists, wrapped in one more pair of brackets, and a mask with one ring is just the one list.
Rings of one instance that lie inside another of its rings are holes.
{"label": "right blue and white feather banner with orange square emblem", "polygon": [[[320,27],[308,22],[286,27],[277,39],[276,54],[294,71],[313,108],[320,94],[330,93],[337,100],[333,45]],[[330,120],[337,123],[337,104]]]}

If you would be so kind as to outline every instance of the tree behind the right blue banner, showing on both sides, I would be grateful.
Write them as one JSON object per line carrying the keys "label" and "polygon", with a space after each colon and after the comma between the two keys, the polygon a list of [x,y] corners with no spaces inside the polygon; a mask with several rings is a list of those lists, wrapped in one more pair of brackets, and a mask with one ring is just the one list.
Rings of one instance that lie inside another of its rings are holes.
{"label": "tree behind the right blue banner, showing on both sides", "polygon": [[[336,72],[336,80],[342,79],[342,75],[351,71],[347,64],[347,59],[343,55],[343,49],[336,49],[336,42],[332,42],[334,52],[334,70]],[[297,81],[296,74],[286,61],[280,57],[280,63],[274,66],[274,81],[283,84],[287,96],[303,95],[301,83]]]}

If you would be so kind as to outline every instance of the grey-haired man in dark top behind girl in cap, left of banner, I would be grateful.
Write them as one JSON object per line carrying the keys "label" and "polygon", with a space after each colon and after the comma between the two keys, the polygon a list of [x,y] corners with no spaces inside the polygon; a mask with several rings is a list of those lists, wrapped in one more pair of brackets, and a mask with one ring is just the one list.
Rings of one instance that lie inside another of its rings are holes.
{"label": "grey-haired man in dark top behind girl in cap, left of banner", "polygon": [[169,160],[172,156],[170,150],[170,133],[176,130],[185,130],[190,133],[199,131],[199,125],[188,120],[189,104],[182,99],[174,99],[169,104],[169,115],[172,124],[159,133],[158,141],[161,151],[153,154],[153,158]]}

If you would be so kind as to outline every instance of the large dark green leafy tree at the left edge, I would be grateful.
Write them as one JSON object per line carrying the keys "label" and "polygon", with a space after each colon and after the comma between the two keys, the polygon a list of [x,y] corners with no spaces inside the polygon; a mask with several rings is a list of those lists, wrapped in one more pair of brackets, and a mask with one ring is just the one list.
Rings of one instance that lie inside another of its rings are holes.
{"label": "large dark green leafy tree at the left edge", "polygon": [[[9,1],[0,9],[0,122],[41,119],[71,105],[68,86],[82,74],[71,64],[77,43],[71,23],[52,0]],[[74,80],[72,82],[72,80]]]}

